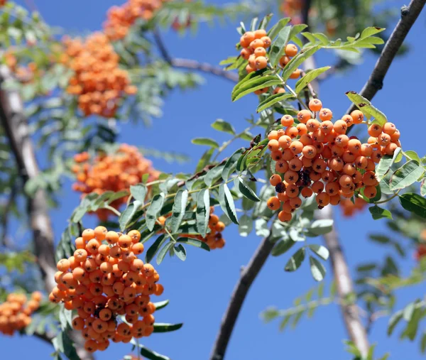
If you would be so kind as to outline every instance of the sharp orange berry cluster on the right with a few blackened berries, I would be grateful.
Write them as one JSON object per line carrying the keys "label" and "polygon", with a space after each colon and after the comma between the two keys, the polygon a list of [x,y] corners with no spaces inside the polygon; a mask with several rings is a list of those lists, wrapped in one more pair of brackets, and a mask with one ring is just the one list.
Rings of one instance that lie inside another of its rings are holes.
{"label": "sharp orange berry cluster on the right with a few blackened berries", "polygon": [[371,124],[367,143],[361,143],[356,136],[346,135],[349,126],[364,121],[361,111],[354,110],[333,124],[332,111],[323,108],[319,99],[312,99],[309,108],[297,113],[297,125],[293,116],[284,115],[283,129],[268,134],[277,172],[270,182],[278,192],[268,200],[268,207],[278,210],[283,203],[278,214],[282,222],[290,221],[300,207],[300,195],[310,197],[315,192],[320,209],[361,191],[372,199],[377,195],[376,163],[400,146],[400,132],[390,122],[383,127]]}

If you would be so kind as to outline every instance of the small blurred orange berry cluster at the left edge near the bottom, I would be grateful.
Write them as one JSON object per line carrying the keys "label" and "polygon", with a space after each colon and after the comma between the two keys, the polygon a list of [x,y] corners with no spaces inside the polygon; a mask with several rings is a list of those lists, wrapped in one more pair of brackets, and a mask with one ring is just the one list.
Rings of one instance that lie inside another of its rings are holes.
{"label": "small blurred orange berry cluster at the left edge near the bottom", "polygon": [[31,294],[31,300],[24,294],[7,295],[6,301],[0,304],[0,333],[13,335],[31,324],[31,314],[40,306],[41,298],[38,291]]}

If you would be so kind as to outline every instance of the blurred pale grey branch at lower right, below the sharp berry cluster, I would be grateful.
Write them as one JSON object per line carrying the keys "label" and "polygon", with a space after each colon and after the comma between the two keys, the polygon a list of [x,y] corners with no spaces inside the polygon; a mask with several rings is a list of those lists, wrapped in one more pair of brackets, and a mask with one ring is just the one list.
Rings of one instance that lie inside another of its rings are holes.
{"label": "blurred pale grey branch at lower right, below the sharp berry cluster", "polygon": [[[324,209],[317,211],[316,214],[317,219],[332,219],[332,217],[331,206],[324,207]],[[330,253],[329,257],[332,262],[334,280],[337,285],[337,294],[341,300],[344,300],[351,293],[354,293],[354,285],[352,283],[351,274],[349,273],[348,264],[344,258],[342,246],[339,243],[339,236],[334,227],[332,231],[324,235],[324,240]],[[356,344],[359,351],[361,351],[361,354],[366,356],[366,354],[368,354],[369,344],[366,329],[359,316],[358,307],[354,303],[345,301],[340,302],[340,307],[349,337]]]}

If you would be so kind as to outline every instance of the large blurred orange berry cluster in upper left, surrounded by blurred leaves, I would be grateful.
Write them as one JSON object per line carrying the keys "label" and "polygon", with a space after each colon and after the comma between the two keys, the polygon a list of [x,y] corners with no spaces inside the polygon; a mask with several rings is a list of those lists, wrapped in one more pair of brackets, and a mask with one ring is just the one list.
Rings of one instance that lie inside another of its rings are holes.
{"label": "large blurred orange berry cluster in upper left, surrounded by blurred leaves", "polygon": [[75,71],[67,92],[78,96],[84,116],[112,117],[124,94],[135,94],[126,70],[119,68],[119,55],[107,36],[93,33],[86,40],[65,38],[62,62]]}

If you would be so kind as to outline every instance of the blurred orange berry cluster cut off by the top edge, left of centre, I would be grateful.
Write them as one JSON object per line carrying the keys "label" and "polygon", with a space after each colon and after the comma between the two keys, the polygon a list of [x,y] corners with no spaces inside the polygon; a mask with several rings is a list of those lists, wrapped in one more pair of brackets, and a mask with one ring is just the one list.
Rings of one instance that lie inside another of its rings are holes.
{"label": "blurred orange berry cluster cut off by the top edge, left of centre", "polygon": [[111,40],[120,40],[138,18],[150,20],[167,0],[128,0],[121,6],[112,6],[104,22],[104,32]]}

